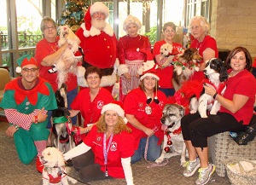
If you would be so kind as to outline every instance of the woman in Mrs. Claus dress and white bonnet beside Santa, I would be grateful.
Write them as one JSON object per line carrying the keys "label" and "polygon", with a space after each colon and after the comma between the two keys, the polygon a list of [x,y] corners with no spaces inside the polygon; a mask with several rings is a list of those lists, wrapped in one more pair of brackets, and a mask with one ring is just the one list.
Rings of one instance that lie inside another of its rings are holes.
{"label": "woman in Mrs. Claus dress and white bonnet beside Santa", "polygon": [[120,65],[118,74],[120,76],[120,101],[123,101],[125,95],[139,85],[138,69],[147,60],[147,55],[137,51],[137,49],[151,51],[148,38],[138,33],[141,27],[141,21],[137,17],[129,14],[123,25],[123,29],[127,32],[127,35],[119,38],[118,58]]}

